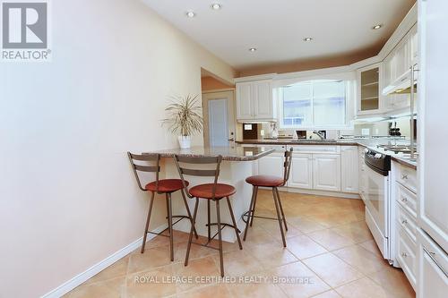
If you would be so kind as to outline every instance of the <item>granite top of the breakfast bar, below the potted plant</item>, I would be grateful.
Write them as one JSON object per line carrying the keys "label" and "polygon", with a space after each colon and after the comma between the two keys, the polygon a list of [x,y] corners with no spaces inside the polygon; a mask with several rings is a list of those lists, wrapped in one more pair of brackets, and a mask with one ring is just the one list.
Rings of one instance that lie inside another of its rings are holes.
{"label": "granite top of the breakfast bar, below the potted plant", "polygon": [[222,160],[228,161],[250,161],[274,152],[274,149],[263,149],[258,147],[242,147],[240,145],[228,147],[192,147],[190,149],[164,149],[142,154],[160,154],[162,158],[172,158],[177,154],[181,157],[216,157],[222,156]]}

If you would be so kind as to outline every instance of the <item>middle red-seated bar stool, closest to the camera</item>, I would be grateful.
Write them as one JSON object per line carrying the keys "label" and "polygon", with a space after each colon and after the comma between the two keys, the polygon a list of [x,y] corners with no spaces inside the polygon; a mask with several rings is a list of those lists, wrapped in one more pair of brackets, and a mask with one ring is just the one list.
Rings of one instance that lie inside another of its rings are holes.
{"label": "middle red-seated bar stool, closest to the camera", "polygon": [[[199,184],[195,185],[194,187],[190,188],[188,190],[187,195],[189,198],[195,198],[196,202],[194,204],[194,213],[193,213],[193,225],[190,231],[190,238],[188,240],[188,246],[186,249],[186,255],[185,255],[185,266],[188,265],[188,258],[190,255],[190,248],[193,242],[193,233],[194,233],[194,224],[196,222],[196,216],[197,216],[197,209],[199,206],[199,199],[205,199],[207,200],[207,228],[208,228],[208,242],[205,244],[202,243],[194,243],[198,245],[202,245],[205,247],[209,247],[212,249],[215,249],[215,247],[209,246],[209,243],[211,243],[211,240],[213,240],[216,235],[218,234],[219,239],[219,249],[220,251],[220,274],[221,277],[224,277],[224,262],[223,262],[223,256],[222,256],[222,239],[221,239],[221,230],[226,227],[232,227],[235,230],[235,234],[237,234],[237,240],[239,249],[243,249],[243,245],[241,244],[241,240],[239,238],[240,231],[237,228],[237,222],[235,220],[235,216],[233,214],[232,206],[230,204],[230,200],[228,199],[229,196],[235,194],[237,190],[232,185],[218,183],[218,177],[220,175],[220,164],[222,161],[222,157],[207,157],[207,158],[186,158],[186,157],[179,157],[175,155],[175,162],[177,166],[177,170],[179,172],[179,175],[181,177],[182,183],[184,183],[184,189],[187,190],[187,182],[184,179],[184,175],[192,175],[192,176],[214,176],[213,183],[205,183],[205,184]],[[189,164],[189,165],[213,165],[216,164],[216,168],[214,169],[193,169],[193,168],[186,168],[183,166],[180,166],[179,163],[182,164]],[[220,200],[226,198],[227,205],[228,205],[228,212],[230,213],[230,217],[232,217],[232,225],[221,223],[220,220]],[[214,201],[216,204],[216,218],[217,223],[211,223],[211,214],[210,214],[210,202]],[[217,226],[218,232],[214,234],[211,237],[211,226]]]}

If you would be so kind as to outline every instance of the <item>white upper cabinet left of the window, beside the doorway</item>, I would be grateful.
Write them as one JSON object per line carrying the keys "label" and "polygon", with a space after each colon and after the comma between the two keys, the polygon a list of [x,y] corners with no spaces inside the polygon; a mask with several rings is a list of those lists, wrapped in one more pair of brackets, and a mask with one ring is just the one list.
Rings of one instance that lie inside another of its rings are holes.
{"label": "white upper cabinet left of the window, beside the doorway", "polygon": [[271,80],[237,84],[238,121],[277,121]]}

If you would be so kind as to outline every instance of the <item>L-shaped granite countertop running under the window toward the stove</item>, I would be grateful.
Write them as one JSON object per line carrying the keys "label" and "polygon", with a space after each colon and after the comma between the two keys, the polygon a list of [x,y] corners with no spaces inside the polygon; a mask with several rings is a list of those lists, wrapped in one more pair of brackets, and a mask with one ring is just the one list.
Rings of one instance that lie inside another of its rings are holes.
{"label": "L-shaped granite countertop running under the window toward the stove", "polygon": [[338,145],[338,146],[363,146],[369,149],[374,149],[383,154],[389,155],[392,160],[398,162],[402,166],[408,166],[417,170],[418,162],[410,160],[409,156],[393,153],[392,151],[385,151],[378,149],[377,145],[392,145],[393,143],[400,143],[403,145],[409,145],[407,140],[391,140],[391,139],[338,139],[338,140],[242,140],[237,141],[238,144],[254,144],[254,145]]}

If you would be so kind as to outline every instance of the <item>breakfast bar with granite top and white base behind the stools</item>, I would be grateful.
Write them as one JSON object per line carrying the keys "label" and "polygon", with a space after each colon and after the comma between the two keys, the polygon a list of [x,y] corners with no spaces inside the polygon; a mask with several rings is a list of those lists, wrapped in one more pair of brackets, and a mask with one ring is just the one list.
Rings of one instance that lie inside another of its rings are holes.
{"label": "breakfast bar with granite top and white base behind the stools", "polygon": [[[237,193],[230,197],[233,212],[237,219],[237,227],[239,230],[244,230],[244,222],[242,215],[249,209],[249,204],[252,194],[252,186],[246,183],[246,177],[254,175],[254,161],[263,158],[266,155],[274,152],[274,149],[265,149],[257,147],[242,147],[241,145],[232,145],[228,147],[192,147],[190,149],[165,149],[153,152],[143,152],[143,155],[159,154],[161,157],[160,179],[162,178],[177,178],[177,166],[174,161],[174,156],[180,157],[216,157],[222,156],[222,163],[220,165],[219,183],[227,183],[233,185],[237,189]],[[210,169],[207,165],[198,165],[200,169]],[[190,186],[202,183],[212,183],[212,177],[196,177],[185,176]],[[194,200],[188,200],[189,208],[193,211]],[[181,198],[180,192],[173,193],[172,201],[173,214],[185,214],[185,206]],[[201,201],[198,209],[198,216],[196,218],[197,233],[202,236],[207,236],[207,204]],[[216,221],[216,215],[211,214],[211,221]],[[231,217],[227,209],[220,211],[221,221],[223,223],[230,223]],[[212,227],[212,229],[216,227]],[[183,232],[190,232],[190,223],[186,220],[180,221],[176,226],[176,230]],[[212,230],[213,232],[213,230]],[[233,229],[225,228],[222,230],[222,239],[228,242],[235,242],[237,240]]]}

